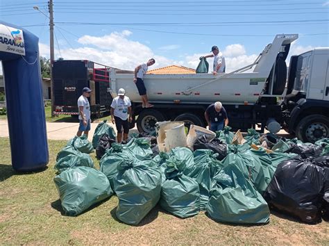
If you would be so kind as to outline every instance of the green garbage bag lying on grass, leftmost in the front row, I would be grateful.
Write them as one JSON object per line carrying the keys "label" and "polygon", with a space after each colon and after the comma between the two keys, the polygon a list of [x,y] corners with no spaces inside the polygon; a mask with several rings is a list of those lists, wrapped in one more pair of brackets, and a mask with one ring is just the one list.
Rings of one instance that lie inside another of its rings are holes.
{"label": "green garbage bag lying on grass, leftmost in the front row", "polygon": [[108,178],[90,167],[65,170],[53,181],[65,214],[75,216],[112,195]]}

